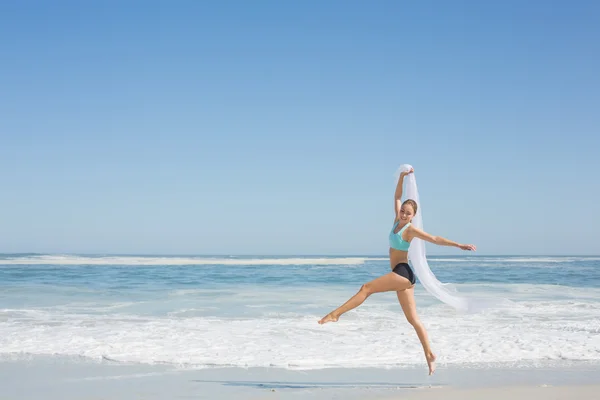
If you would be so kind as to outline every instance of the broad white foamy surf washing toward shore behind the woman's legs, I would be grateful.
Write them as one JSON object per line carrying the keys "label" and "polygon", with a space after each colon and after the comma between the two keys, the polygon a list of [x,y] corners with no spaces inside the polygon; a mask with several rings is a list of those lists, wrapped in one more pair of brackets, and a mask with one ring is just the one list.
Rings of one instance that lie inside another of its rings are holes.
{"label": "broad white foamy surf washing toward shore behind the woman's legs", "polygon": [[[464,289],[464,288],[463,288]],[[471,287],[473,289],[473,287]],[[419,313],[441,363],[520,363],[550,360],[600,362],[600,291],[563,293],[564,299],[540,300],[540,291],[516,290],[514,308],[458,315],[417,294]],[[579,289],[583,291],[583,289]],[[587,290],[587,289],[586,289]],[[104,314],[61,308],[0,310],[0,354],[39,354],[107,358],[119,362],[208,366],[390,367],[424,364],[413,328],[394,296],[369,299],[339,322],[318,325],[322,316],[345,300],[341,291],[316,300],[301,291],[307,310],[277,308],[286,294],[241,293],[243,303],[271,304],[251,314],[201,315],[181,307],[165,315]],[[553,288],[546,288],[546,295]],[[178,293],[190,296],[193,293]],[[261,297],[262,296],[262,297]],[[267,299],[265,299],[265,296]],[[290,298],[294,301],[296,293]],[[262,300],[261,300],[262,299]],[[536,300],[532,300],[536,299]],[[221,299],[223,300],[223,299]],[[233,308],[240,299],[227,299]],[[220,304],[214,299],[199,307]],[[102,309],[106,309],[104,306]]]}

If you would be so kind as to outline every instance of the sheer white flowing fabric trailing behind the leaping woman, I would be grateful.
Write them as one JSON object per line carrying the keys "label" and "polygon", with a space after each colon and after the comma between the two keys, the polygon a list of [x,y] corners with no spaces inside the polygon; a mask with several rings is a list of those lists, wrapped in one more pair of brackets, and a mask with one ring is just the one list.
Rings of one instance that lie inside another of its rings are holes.
{"label": "sheer white flowing fabric trailing behind the leaping woman", "polygon": [[[396,173],[396,182],[400,178],[400,173],[410,171],[411,168],[412,166],[409,164],[401,165]],[[404,185],[404,197],[417,202],[417,213],[412,219],[412,224],[416,228],[423,230],[423,207],[419,201],[419,191],[417,190],[417,180],[414,173],[404,177]],[[429,268],[425,254],[425,242],[422,239],[414,238],[411,241],[410,248],[408,249],[408,259],[425,290],[459,311],[477,312],[488,307],[503,304],[503,299],[468,298],[461,296],[452,285],[440,282]]]}

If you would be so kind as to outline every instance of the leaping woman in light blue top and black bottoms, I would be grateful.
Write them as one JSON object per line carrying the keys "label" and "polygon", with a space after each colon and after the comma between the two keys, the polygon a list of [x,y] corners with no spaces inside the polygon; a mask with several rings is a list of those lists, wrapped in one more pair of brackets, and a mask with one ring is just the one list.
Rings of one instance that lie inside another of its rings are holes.
{"label": "leaping woman in light blue top and black bottoms", "polygon": [[361,305],[373,293],[395,291],[406,319],[415,328],[417,336],[421,341],[427,365],[429,366],[429,375],[431,375],[435,371],[435,354],[431,351],[427,331],[417,315],[414,297],[416,279],[413,270],[408,264],[408,249],[414,238],[419,238],[440,246],[454,246],[467,251],[475,251],[476,248],[472,244],[459,244],[440,236],[432,236],[411,224],[412,219],[417,213],[418,205],[412,199],[402,202],[401,198],[404,177],[413,172],[414,169],[411,168],[400,174],[394,195],[396,218],[394,219],[394,225],[389,235],[390,267],[392,272],[362,285],[357,294],[341,307],[323,317],[319,321],[319,324],[336,322],[342,314]]}

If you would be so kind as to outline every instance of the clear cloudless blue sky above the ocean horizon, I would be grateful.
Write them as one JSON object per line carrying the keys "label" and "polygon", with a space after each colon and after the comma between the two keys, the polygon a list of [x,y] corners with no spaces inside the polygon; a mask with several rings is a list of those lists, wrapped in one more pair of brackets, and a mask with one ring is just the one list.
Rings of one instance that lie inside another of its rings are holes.
{"label": "clear cloudless blue sky above the ocean horizon", "polygon": [[385,255],[410,163],[432,234],[600,254],[598,21],[596,1],[3,1],[0,252]]}

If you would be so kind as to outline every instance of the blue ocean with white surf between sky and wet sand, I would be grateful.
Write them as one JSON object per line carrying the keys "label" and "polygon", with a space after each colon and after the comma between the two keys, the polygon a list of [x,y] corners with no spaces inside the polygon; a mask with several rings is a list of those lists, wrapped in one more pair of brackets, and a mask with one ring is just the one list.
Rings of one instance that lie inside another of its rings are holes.
{"label": "blue ocean with white surf between sky and wet sand", "polygon": [[[508,309],[461,314],[417,282],[440,365],[600,363],[600,257],[429,257],[439,280]],[[395,293],[317,321],[386,257],[0,255],[0,360],[180,368],[425,368]]]}

